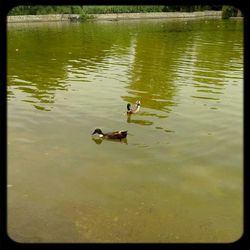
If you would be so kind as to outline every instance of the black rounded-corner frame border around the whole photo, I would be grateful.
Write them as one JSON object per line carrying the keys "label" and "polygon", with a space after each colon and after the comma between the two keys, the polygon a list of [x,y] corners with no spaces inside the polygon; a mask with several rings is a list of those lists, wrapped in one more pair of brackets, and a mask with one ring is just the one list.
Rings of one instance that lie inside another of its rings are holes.
{"label": "black rounded-corner frame border around the whole photo", "polygon": [[[245,249],[245,247],[249,241],[247,238],[249,237],[249,217],[247,211],[250,211],[249,206],[247,204],[247,177],[248,177],[248,164],[247,164],[247,137],[248,133],[245,128],[248,128],[247,124],[247,92],[248,92],[248,82],[249,82],[249,66],[247,64],[249,58],[249,44],[250,39],[247,37],[247,33],[249,33],[249,10],[247,9],[247,1],[246,0],[8,0],[0,2],[0,31],[1,31],[1,50],[0,50],[0,69],[1,69],[1,81],[0,81],[0,107],[1,107],[1,119],[0,119],[0,138],[1,138],[1,168],[0,168],[0,249],[54,249],[57,247],[63,248],[84,248],[84,247],[98,247],[99,245],[107,245],[107,247],[123,247],[129,245],[143,245],[141,244],[74,244],[74,243],[17,243],[13,241],[7,232],[7,23],[6,17],[8,15],[9,10],[18,5],[234,5],[239,8],[244,15],[244,92],[243,92],[243,103],[244,103],[244,228],[242,237],[233,243],[148,243],[145,245],[152,245],[152,247],[169,247],[170,249],[176,249],[179,247],[190,248],[190,249],[216,249],[216,248],[226,248],[226,249]],[[131,246],[132,247],[132,246]]]}

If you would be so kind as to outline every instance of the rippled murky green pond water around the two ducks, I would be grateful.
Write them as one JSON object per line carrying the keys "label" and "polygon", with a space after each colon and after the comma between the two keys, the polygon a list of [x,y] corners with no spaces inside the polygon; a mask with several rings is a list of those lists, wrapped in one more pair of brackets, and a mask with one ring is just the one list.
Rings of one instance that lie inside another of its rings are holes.
{"label": "rippled murky green pond water around the two ducks", "polygon": [[241,237],[242,20],[9,24],[7,38],[13,240]]}

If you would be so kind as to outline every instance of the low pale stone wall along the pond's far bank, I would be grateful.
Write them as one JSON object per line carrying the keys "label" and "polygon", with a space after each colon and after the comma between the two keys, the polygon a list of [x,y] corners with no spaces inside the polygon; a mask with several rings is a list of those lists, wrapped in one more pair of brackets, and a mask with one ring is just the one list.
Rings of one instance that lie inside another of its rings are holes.
{"label": "low pale stone wall along the pond's far bank", "polygon": [[[222,18],[222,11],[89,14],[86,17],[86,21],[119,21],[119,20],[133,20],[133,19],[163,19],[163,18],[165,19]],[[58,22],[58,21],[71,22],[80,20],[81,20],[80,14],[7,16],[7,23]]]}

